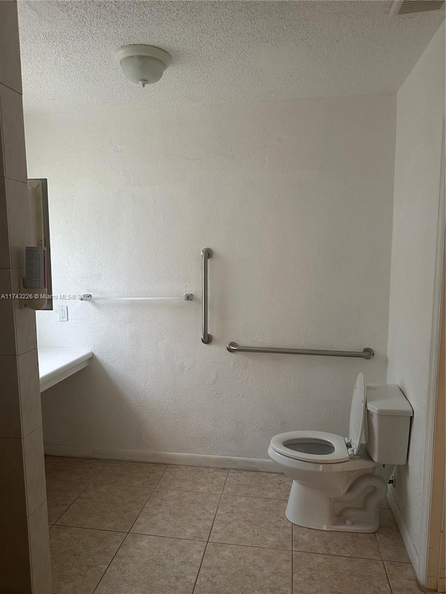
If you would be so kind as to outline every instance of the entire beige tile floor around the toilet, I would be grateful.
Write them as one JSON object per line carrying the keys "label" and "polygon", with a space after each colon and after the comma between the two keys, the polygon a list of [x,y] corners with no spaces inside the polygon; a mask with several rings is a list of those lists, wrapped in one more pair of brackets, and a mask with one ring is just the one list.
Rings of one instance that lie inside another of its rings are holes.
{"label": "entire beige tile floor around the toilet", "polygon": [[46,458],[54,594],[419,594],[376,534],[293,526],[282,474]]}

